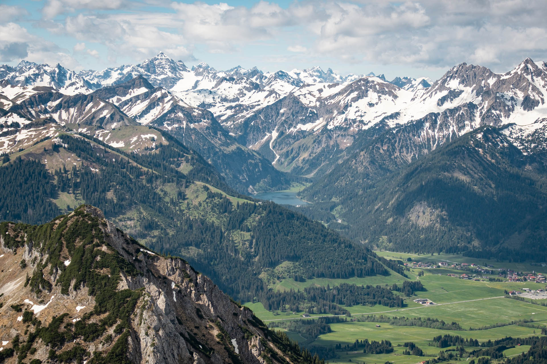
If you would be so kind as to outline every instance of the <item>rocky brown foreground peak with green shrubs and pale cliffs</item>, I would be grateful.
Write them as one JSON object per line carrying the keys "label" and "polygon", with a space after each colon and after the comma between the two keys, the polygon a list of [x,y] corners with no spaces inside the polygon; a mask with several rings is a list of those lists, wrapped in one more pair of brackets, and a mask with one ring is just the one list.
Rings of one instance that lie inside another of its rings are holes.
{"label": "rocky brown foreground peak with green shrubs and pale cliffs", "polygon": [[182,259],[147,250],[81,206],[0,224],[0,361],[308,362]]}

